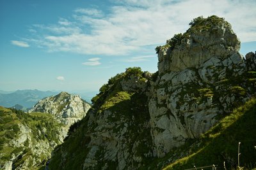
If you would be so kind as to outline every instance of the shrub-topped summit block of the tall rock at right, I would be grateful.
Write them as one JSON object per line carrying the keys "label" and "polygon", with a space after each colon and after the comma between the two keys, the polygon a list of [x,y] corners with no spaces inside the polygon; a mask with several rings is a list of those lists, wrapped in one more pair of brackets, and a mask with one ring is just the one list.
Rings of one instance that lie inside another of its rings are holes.
{"label": "shrub-topped summit block of the tall rock at right", "polygon": [[[159,73],[198,68],[212,57],[227,58],[238,55],[240,41],[231,25],[223,18],[211,16],[195,18],[183,34],[176,34],[158,46]],[[241,58],[241,56],[240,56]]]}

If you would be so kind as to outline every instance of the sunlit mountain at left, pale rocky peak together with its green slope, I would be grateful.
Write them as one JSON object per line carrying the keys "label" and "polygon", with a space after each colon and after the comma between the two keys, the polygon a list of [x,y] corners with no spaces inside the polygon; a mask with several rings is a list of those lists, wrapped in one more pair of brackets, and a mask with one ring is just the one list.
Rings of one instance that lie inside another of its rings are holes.
{"label": "sunlit mountain at left, pale rocky peak together with its green slope", "polygon": [[90,107],[67,92],[40,100],[29,113],[0,107],[0,169],[42,168]]}

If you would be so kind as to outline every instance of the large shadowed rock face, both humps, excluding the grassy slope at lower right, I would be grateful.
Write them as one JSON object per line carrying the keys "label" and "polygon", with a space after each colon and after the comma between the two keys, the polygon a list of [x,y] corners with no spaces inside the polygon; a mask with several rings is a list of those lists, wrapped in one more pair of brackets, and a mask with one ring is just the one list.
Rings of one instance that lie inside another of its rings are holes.
{"label": "large shadowed rock face, both humps, excluding the grassy slope at lower right", "polygon": [[[212,27],[204,23],[216,20]],[[158,73],[133,68],[109,79],[92,110],[53,153],[58,166],[51,166],[147,167],[250,99],[255,94],[255,55],[243,59],[236,34],[222,18],[203,18],[200,24],[207,27],[194,24],[175,46],[159,47]],[[66,151],[76,145],[79,149]],[[76,155],[83,159],[72,164]]]}

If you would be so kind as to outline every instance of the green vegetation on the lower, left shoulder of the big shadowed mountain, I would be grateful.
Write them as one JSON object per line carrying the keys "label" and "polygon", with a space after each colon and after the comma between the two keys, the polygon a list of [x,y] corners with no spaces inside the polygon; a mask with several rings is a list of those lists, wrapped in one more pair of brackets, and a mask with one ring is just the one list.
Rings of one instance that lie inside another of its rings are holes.
{"label": "green vegetation on the lower, left shoulder of the big shadowed mountain", "polygon": [[[93,142],[95,142],[95,139],[102,139],[99,137],[101,132],[96,130],[99,124],[106,126],[104,129],[107,129],[108,125],[111,126],[108,132],[116,136],[115,138],[123,136],[122,140],[116,141],[116,143],[125,145],[125,148],[127,148],[125,152],[132,153],[134,143],[137,142],[138,147],[133,151],[135,152],[133,153],[134,156],[143,159],[145,165],[150,163],[152,157],[145,156],[151,150],[148,146],[152,146],[150,128],[147,127],[150,118],[147,96],[132,90],[125,91],[120,83],[129,80],[131,77],[138,78],[138,81],[145,81],[143,74],[140,67],[127,68],[125,73],[116,74],[115,77],[109,79],[108,84],[100,88],[100,94],[92,99],[91,112],[83,120],[70,127],[65,143],[58,146],[54,151],[51,158],[51,169],[83,169],[84,160],[92,152],[91,150],[95,150],[95,157],[98,161],[92,169],[102,169],[106,165],[109,169],[116,169],[118,167],[117,159],[104,159],[104,154],[107,152],[104,145],[108,143],[105,143],[104,140],[113,139],[103,139],[102,145],[92,145],[90,143],[92,141],[91,136],[93,136]],[[94,122],[91,120],[92,117],[103,122]],[[104,118],[102,119],[102,117]],[[122,132],[124,129],[126,132]],[[60,157],[63,157],[63,159],[60,159]],[[138,163],[133,162],[133,164],[136,167]]]}

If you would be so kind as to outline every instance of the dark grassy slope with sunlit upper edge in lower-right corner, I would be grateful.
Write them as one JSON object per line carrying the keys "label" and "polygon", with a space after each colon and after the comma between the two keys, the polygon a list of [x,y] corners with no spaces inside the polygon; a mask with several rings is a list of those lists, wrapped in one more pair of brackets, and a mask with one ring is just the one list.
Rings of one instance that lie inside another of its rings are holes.
{"label": "dark grassy slope with sunlit upper edge in lower-right corner", "polygon": [[[204,135],[183,146],[187,156],[169,164],[164,169],[189,169],[200,166],[218,165],[218,169],[237,167],[237,148],[240,145],[240,166],[244,169],[256,167],[256,99],[251,99],[243,106],[223,118],[221,122]],[[177,150],[176,150],[177,151]],[[190,151],[190,152],[189,152]],[[173,151],[175,153],[175,150]]]}

